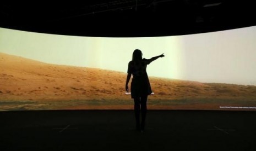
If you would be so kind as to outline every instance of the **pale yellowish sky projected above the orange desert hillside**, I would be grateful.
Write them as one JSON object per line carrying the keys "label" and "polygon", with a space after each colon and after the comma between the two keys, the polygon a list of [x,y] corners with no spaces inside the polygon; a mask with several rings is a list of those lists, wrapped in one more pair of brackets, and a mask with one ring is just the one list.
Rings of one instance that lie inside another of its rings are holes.
{"label": "pale yellowish sky projected above the orange desert hillside", "polygon": [[[58,65],[127,72],[135,49],[152,62],[149,76],[256,85],[256,26],[185,36],[101,38],[0,28],[0,52]],[[1,65],[0,65],[1,67]]]}

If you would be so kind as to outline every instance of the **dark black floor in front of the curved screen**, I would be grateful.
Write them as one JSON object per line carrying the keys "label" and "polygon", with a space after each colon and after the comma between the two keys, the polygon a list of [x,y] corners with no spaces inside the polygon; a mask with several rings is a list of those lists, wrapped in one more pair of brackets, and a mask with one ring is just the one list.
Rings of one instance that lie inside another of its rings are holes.
{"label": "dark black floor in front of the curved screen", "polygon": [[0,150],[256,150],[256,112],[0,112]]}

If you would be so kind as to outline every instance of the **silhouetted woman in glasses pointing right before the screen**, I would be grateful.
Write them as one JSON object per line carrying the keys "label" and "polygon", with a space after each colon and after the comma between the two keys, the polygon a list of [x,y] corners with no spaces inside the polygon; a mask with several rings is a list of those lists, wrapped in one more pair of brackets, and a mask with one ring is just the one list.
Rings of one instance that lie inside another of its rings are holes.
{"label": "silhouetted woman in glasses pointing right before the screen", "polygon": [[[143,132],[145,128],[146,119],[146,101],[148,95],[152,93],[149,83],[148,74],[146,73],[146,66],[150,62],[164,57],[164,54],[152,57],[151,59],[142,59],[142,53],[139,49],[133,51],[132,61],[128,63],[127,79],[126,79],[126,91],[129,91],[128,83],[130,77],[133,75],[132,83],[130,86],[131,96],[134,100],[134,112],[136,119],[136,129]],[[141,110],[141,124],[140,124],[140,110]]]}

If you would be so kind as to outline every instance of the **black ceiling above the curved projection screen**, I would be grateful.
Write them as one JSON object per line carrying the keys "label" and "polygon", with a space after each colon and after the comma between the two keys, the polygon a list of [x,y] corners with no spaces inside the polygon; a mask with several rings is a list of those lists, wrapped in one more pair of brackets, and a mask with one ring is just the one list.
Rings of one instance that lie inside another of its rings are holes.
{"label": "black ceiling above the curved projection screen", "polygon": [[256,25],[253,1],[1,2],[0,27],[96,37],[174,36]]}

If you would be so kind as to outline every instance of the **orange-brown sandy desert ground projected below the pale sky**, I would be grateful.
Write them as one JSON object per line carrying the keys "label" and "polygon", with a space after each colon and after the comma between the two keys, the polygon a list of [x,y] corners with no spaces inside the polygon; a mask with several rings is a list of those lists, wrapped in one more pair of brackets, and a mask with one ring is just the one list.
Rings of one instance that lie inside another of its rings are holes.
{"label": "orange-brown sandy desert ground projected below the pale sky", "polygon": [[[132,98],[125,94],[126,75],[0,53],[0,111],[133,109]],[[254,85],[149,78],[154,91],[149,109],[256,111]]]}

